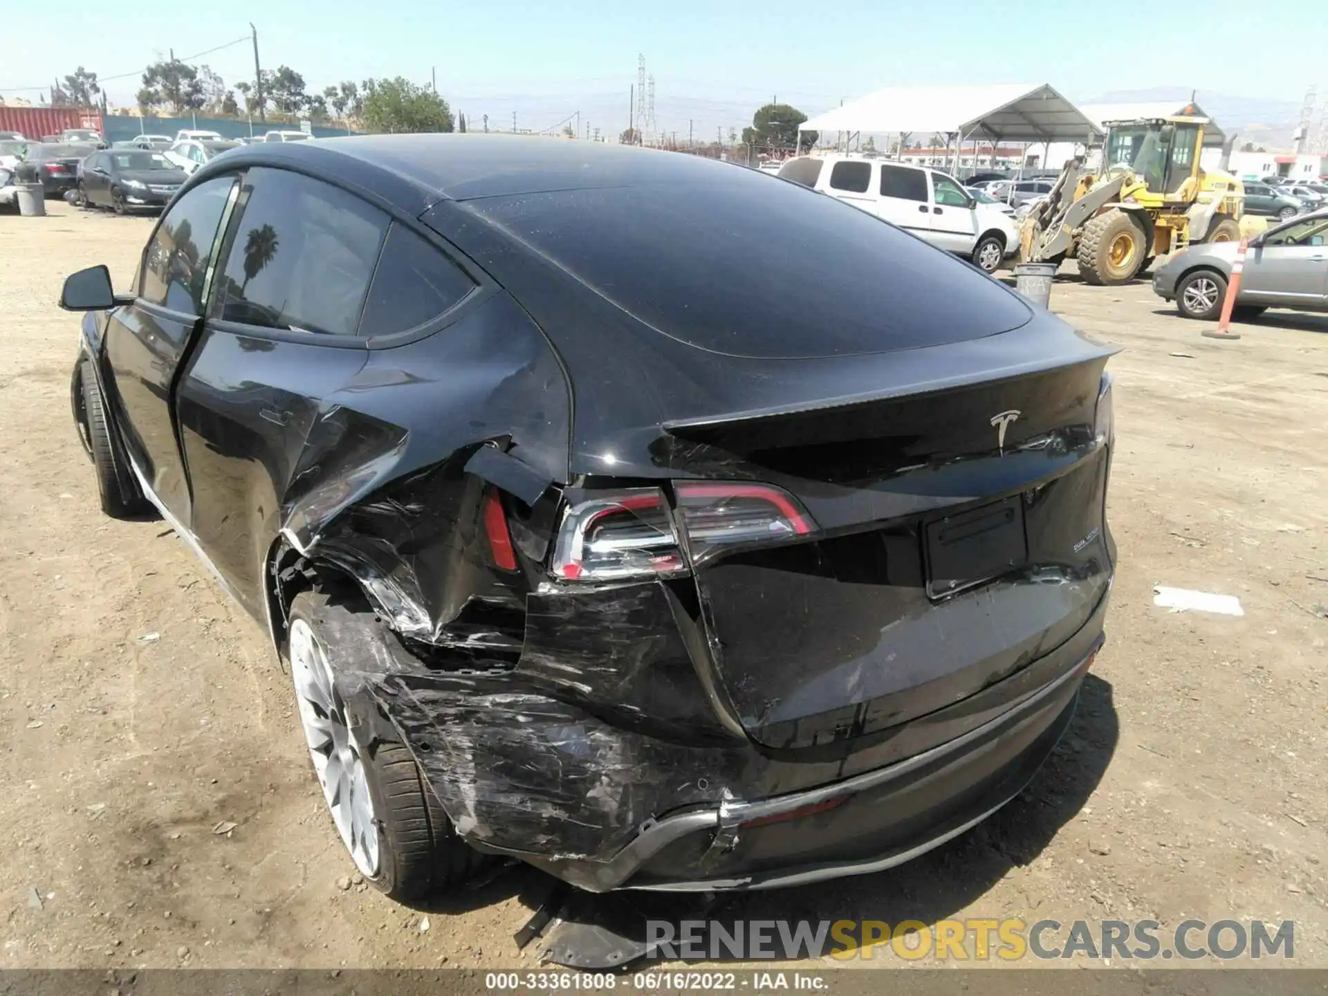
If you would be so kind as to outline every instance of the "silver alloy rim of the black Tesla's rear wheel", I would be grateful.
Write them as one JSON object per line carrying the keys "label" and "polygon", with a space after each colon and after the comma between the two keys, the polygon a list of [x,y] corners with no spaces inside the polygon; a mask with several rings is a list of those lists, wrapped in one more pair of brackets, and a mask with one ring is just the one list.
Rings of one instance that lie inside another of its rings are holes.
{"label": "silver alloy rim of the black Tesla's rear wheel", "polygon": [[347,722],[327,655],[303,619],[291,623],[291,677],[313,772],[341,843],[367,878],[378,874],[378,827],[360,742]]}

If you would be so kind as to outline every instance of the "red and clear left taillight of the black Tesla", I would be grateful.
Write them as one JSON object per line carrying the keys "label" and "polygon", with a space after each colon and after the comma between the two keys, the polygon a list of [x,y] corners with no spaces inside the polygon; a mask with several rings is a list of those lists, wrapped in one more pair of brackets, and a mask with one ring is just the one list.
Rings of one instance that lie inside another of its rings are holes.
{"label": "red and clear left taillight of the black Tesla", "polygon": [[769,485],[675,482],[673,494],[673,507],[655,487],[606,493],[571,505],[554,548],[554,576],[672,576],[734,547],[780,543],[817,531],[793,495]]}

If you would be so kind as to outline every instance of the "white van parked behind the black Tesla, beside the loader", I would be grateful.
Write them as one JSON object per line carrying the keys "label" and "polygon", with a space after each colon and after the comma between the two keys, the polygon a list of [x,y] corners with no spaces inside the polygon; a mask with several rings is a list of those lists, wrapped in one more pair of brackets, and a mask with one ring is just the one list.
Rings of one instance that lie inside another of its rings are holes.
{"label": "white van parked behind the black Tesla, beside the loader", "polygon": [[861,207],[988,274],[1019,252],[1015,220],[938,170],[858,155],[799,155],[785,161],[780,177]]}

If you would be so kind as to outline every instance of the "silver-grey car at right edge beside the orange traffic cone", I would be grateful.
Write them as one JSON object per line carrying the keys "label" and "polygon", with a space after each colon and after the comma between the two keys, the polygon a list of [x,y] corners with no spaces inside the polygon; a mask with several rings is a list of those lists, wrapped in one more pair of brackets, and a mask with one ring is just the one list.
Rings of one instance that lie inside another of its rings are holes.
{"label": "silver-grey car at right edge beside the orange traffic cone", "polygon": [[[1158,267],[1153,291],[1187,319],[1216,319],[1236,251],[1235,242],[1190,246]],[[1328,208],[1250,239],[1232,313],[1251,319],[1267,308],[1328,311]]]}

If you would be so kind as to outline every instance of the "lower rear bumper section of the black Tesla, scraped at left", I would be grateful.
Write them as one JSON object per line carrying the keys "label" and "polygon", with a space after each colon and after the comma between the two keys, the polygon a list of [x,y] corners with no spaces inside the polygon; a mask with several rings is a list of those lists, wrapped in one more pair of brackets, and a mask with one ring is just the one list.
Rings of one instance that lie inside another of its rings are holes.
{"label": "lower rear bumper section of the black Tesla, scraped at left", "polygon": [[[781,888],[902,865],[960,835],[1032,780],[1073,718],[1102,644],[1009,712],[887,768],[809,791],[648,823],[608,862],[533,863],[591,891]],[[780,819],[807,811],[791,819]]]}

